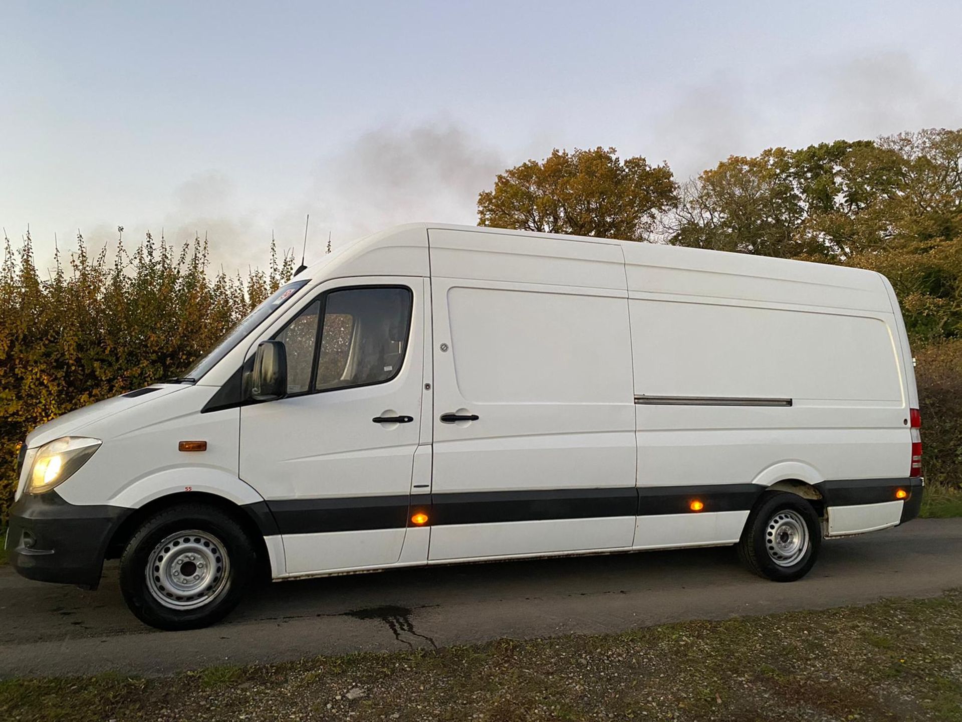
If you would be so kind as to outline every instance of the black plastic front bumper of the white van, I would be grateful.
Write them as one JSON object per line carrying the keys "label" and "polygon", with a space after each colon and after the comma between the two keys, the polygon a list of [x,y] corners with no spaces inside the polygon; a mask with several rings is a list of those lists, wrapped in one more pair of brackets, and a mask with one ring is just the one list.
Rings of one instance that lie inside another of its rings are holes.
{"label": "black plastic front bumper of the white van", "polygon": [[63,501],[56,491],[24,494],[10,510],[7,552],[29,580],[95,589],[114,531],[133,509]]}

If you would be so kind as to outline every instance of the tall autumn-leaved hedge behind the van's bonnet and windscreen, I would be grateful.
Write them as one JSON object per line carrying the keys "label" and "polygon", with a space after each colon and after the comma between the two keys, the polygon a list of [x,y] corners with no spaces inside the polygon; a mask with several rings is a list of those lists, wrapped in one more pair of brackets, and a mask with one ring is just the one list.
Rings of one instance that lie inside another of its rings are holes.
{"label": "tall autumn-leaved hedge behind the van's bonnet and windscreen", "polygon": [[91,256],[83,237],[39,276],[28,233],[4,238],[0,267],[0,527],[27,432],[67,411],[183,373],[232,325],[291,277],[271,243],[268,272],[211,275],[207,242],[179,248],[148,233]]}

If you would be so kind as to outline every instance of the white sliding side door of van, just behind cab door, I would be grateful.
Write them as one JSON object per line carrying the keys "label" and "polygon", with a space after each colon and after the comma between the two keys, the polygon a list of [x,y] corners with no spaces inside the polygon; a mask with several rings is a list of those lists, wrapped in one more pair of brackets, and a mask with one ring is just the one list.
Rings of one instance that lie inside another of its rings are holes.
{"label": "white sliding side door of van, just behind cab door", "polygon": [[[539,492],[634,487],[630,330],[618,245],[430,229],[431,560],[630,547],[634,510],[469,523]],[[603,373],[598,370],[603,369]],[[573,382],[577,379],[577,382]],[[446,424],[444,413],[477,421]],[[469,495],[483,494],[484,497]],[[459,496],[460,495],[460,496]],[[468,495],[468,496],[465,496]],[[452,509],[448,511],[448,509]],[[443,523],[444,520],[448,523]]]}

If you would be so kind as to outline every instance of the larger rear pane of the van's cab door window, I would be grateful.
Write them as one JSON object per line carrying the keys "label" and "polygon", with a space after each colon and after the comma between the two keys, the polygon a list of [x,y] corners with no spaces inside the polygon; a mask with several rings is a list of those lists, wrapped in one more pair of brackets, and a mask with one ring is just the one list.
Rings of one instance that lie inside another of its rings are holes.
{"label": "larger rear pane of the van's cab door window", "polygon": [[404,288],[345,289],[328,294],[316,391],[393,378],[404,362],[411,301],[411,292]]}

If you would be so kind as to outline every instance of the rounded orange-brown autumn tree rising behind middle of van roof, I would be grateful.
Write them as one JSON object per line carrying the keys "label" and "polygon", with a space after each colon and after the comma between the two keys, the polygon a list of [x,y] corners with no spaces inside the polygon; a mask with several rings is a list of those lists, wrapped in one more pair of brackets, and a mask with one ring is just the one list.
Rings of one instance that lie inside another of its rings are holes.
{"label": "rounded orange-brown autumn tree rising behind middle of van roof", "polygon": [[667,164],[615,148],[551,152],[499,173],[493,191],[478,194],[478,225],[570,233],[625,241],[648,239],[659,215],[677,202]]}

